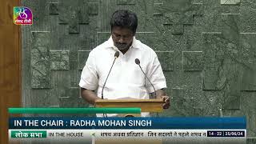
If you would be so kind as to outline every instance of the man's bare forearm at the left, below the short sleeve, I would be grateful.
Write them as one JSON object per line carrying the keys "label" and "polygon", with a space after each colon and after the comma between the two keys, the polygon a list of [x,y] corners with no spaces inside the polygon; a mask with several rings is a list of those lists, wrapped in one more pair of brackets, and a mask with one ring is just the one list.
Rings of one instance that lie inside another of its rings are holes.
{"label": "man's bare forearm at the left, below the short sleeve", "polygon": [[86,90],[84,88],[81,88],[81,96],[83,99],[86,100],[86,102],[89,102],[90,104],[95,103],[96,99],[100,99],[97,97],[97,95],[92,90]]}

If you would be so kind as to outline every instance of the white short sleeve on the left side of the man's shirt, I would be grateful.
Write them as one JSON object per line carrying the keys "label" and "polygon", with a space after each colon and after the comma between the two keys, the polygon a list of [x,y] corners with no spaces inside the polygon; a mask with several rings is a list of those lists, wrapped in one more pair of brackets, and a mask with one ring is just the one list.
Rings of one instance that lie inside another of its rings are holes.
{"label": "white short sleeve on the left side of the man's shirt", "polygon": [[92,50],[87,58],[86,66],[82,69],[81,79],[79,82],[79,86],[87,90],[96,90],[98,87],[98,74],[95,60],[94,50]]}

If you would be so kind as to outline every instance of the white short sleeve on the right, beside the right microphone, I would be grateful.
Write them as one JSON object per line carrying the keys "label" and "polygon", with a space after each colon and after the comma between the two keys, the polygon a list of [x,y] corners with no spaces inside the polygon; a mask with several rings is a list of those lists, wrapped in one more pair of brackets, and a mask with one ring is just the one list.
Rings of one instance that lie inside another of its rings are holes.
{"label": "white short sleeve on the right, beside the right microphone", "polygon": [[[146,74],[150,79],[150,82],[152,82],[154,85],[155,90],[166,88],[166,78],[162,72],[162,66],[158,60],[158,56],[154,51],[152,52],[150,64]],[[154,88],[150,85],[150,82],[146,81],[146,89],[150,93],[153,93]]]}

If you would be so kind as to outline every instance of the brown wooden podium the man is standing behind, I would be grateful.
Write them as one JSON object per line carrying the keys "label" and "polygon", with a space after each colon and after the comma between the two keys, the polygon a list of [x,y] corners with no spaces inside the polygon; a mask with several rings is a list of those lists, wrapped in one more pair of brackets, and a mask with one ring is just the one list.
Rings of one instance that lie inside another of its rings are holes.
{"label": "brown wooden podium the man is standing behind", "polygon": [[[139,107],[142,112],[162,112],[163,100],[155,99],[97,99],[95,107]],[[119,117],[139,117],[140,114],[118,114]]]}

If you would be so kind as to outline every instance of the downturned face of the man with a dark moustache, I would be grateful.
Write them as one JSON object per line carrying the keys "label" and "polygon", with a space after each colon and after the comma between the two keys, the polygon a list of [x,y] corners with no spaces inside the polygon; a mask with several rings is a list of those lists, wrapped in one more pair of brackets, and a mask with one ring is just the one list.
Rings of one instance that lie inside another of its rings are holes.
{"label": "downturned face of the man with a dark moustache", "polygon": [[116,46],[118,50],[129,49],[131,43],[133,42],[134,33],[128,28],[114,26],[112,28],[111,35],[114,46]]}

